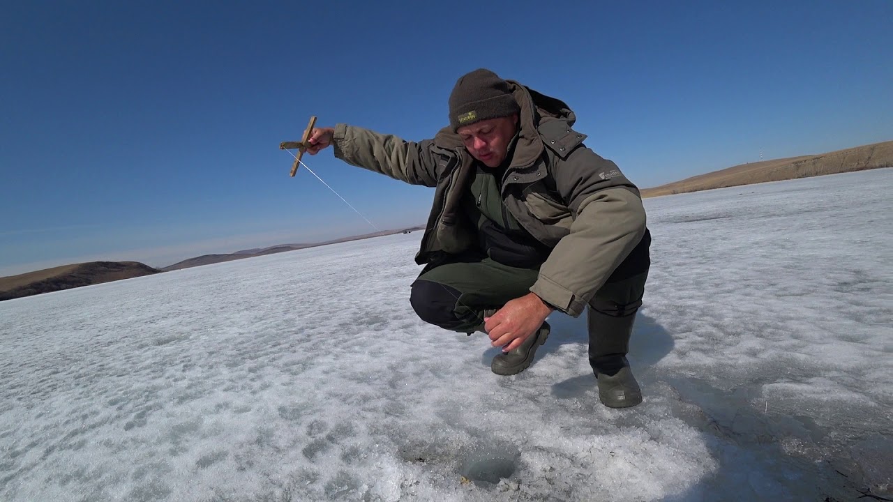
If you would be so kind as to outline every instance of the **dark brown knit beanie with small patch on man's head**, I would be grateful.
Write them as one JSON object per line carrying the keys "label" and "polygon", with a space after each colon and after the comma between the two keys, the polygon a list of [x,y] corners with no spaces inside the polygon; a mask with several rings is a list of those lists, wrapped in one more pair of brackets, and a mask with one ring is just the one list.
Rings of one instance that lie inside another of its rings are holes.
{"label": "dark brown knit beanie with small patch on man's head", "polygon": [[507,117],[520,111],[508,82],[483,68],[459,77],[449,95],[449,123],[453,132],[477,121]]}

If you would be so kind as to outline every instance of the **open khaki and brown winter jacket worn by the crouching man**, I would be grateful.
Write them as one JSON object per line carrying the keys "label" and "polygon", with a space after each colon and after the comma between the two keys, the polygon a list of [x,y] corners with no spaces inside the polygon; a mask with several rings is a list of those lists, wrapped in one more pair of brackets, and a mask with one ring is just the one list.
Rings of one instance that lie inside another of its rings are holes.
{"label": "open khaki and brown winter jacket worn by the crouching man", "polygon": [[[508,82],[521,107],[521,130],[502,181],[503,201],[530,235],[553,247],[530,291],[576,317],[612,277],[647,271],[645,208],[617,165],[583,145],[586,135],[572,129],[576,116],[567,105]],[[460,205],[474,159],[449,127],[410,142],[338,124],[333,144],[346,163],[435,188],[416,263],[477,246]]]}

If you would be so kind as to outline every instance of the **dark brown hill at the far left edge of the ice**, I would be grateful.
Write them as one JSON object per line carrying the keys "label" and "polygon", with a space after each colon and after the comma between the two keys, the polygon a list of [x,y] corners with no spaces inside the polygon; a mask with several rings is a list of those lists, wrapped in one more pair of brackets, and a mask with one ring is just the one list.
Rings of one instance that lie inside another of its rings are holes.
{"label": "dark brown hill at the far left edge of the ice", "polygon": [[0,277],[0,301],[162,272],[138,262],[89,262]]}

